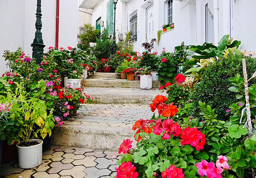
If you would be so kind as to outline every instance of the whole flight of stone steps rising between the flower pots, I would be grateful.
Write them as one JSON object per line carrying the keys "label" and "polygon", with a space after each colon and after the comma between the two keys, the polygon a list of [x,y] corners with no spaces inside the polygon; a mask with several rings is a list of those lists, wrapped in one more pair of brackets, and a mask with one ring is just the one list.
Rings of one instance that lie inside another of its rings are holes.
{"label": "whole flight of stone steps rising between the flower pots", "polygon": [[[86,79],[84,92],[94,97],[94,104],[84,104],[61,126],[54,127],[53,145],[117,150],[124,139],[134,140],[132,130],[138,119],[150,119],[149,104],[156,95],[167,95],[154,88],[141,90],[140,81],[119,79],[115,73],[94,73]],[[157,114],[156,114],[157,115]]]}

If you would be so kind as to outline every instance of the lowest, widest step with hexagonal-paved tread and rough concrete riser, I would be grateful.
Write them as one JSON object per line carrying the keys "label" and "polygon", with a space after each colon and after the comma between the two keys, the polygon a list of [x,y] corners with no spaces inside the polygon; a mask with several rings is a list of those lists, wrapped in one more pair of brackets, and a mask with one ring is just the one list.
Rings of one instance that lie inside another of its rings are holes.
{"label": "lowest, widest step with hexagonal-paved tread and rough concrete riser", "polygon": [[135,146],[132,126],[153,115],[149,105],[135,104],[83,104],[77,113],[54,127],[53,145],[116,151],[124,139],[130,139]]}

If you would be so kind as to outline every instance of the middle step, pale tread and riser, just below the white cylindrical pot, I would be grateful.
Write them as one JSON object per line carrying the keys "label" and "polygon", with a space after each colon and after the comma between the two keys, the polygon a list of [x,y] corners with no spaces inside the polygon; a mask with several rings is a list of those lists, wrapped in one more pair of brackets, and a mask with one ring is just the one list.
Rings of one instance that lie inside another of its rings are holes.
{"label": "middle step, pale tread and riser, just below the white cylindrical pot", "polygon": [[141,90],[138,88],[103,88],[85,87],[86,95],[93,96],[94,103],[102,104],[151,104],[156,95],[161,93],[158,89]]}

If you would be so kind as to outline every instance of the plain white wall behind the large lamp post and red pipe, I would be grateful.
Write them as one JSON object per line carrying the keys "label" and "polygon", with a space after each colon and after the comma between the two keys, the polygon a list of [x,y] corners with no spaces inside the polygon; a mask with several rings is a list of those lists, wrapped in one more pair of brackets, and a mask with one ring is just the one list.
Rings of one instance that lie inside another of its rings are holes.
{"label": "plain white wall behind the large lamp post and red pipe", "polygon": [[[55,46],[56,0],[42,1],[42,34],[46,45]],[[15,51],[21,46],[24,52],[32,56],[30,47],[35,37],[35,0],[0,1],[0,73],[6,71],[2,52],[5,49]],[[78,2],[60,1],[59,47],[76,46]]]}

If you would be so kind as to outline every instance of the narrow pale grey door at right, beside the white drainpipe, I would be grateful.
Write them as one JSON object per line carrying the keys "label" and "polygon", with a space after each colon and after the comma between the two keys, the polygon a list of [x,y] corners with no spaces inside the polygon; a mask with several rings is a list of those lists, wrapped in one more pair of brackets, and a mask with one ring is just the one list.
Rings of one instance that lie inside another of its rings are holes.
{"label": "narrow pale grey door at right, beside the white drainpipe", "polygon": [[205,41],[214,44],[213,0],[205,4]]}

